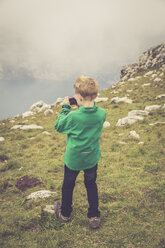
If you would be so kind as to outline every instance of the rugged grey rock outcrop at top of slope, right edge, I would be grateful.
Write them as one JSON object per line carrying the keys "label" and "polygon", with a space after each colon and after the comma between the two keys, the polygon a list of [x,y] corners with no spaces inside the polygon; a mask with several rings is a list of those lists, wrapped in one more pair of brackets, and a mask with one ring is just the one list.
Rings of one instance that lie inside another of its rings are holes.
{"label": "rugged grey rock outcrop at top of slope, right edge", "polygon": [[[139,59],[130,65],[126,65],[122,67],[120,72],[120,80],[128,80],[129,78],[133,77],[138,72],[144,70],[151,70],[155,66],[161,66],[165,64],[165,43],[151,47],[148,51],[144,52]],[[162,70],[164,67],[162,67]],[[145,74],[149,76],[153,73],[148,72]]]}

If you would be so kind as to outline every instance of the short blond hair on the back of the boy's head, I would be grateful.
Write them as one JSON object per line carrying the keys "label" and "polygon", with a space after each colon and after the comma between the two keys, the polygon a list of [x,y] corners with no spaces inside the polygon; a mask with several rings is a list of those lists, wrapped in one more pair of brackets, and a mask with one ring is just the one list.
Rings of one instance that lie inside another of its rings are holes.
{"label": "short blond hair on the back of the boy's head", "polygon": [[98,86],[98,82],[93,78],[80,76],[74,84],[74,89],[75,93],[85,100],[94,100],[98,94]]}

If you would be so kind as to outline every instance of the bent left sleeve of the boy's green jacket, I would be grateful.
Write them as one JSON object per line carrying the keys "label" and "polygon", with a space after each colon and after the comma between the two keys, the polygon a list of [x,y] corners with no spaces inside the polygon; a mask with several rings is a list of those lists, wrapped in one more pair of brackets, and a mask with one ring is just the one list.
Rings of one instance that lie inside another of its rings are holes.
{"label": "bent left sleeve of the boy's green jacket", "polygon": [[69,134],[72,128],[72,116],[69,114],[71,109],[63,108],[59,114],[56,124],[54,126],[55,130],[59,133]]}

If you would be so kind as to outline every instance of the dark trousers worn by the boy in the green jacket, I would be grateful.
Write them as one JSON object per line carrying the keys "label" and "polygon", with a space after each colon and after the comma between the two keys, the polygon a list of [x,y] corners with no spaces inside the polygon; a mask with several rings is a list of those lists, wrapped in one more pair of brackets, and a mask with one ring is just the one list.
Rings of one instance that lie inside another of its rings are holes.
{"label": "dark trousers worn by the boy in the green jacket", "polygon": [[[62,185],[62,205],[61,214],[69,217],[72,212],[72,197],[76,178],[80,171],[70,170],[66,165],[64,167],[64,181]],[[96,184],[97,164],[90,169],[84,170],[84,184],[88,196],[88,214],[87,217],[100,216],[98,210],[98,190]]]}

